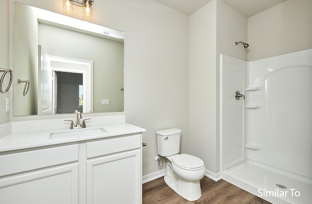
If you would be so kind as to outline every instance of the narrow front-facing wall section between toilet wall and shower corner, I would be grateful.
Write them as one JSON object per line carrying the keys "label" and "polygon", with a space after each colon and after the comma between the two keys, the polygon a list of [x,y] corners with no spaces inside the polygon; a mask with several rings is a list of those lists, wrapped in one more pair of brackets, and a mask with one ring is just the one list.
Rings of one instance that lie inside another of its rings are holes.
{"label": "narrow front-facing wall section between toilet wall and shower corner", "polygon": [[189,153],[216,173],[216,0],[190,16]]}

